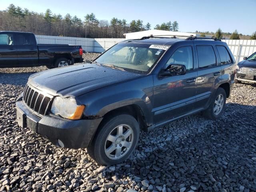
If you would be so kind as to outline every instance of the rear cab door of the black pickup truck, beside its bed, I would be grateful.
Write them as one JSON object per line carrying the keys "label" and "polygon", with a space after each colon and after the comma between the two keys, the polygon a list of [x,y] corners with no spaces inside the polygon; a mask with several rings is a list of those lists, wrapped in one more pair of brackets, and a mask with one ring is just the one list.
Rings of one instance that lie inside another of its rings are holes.
{"label": "rear cab door of the black pickup truck, beside its bed", "polygon": [[38,66],[38,50],[34,34],[16,33],[18,65],[22,67]]}

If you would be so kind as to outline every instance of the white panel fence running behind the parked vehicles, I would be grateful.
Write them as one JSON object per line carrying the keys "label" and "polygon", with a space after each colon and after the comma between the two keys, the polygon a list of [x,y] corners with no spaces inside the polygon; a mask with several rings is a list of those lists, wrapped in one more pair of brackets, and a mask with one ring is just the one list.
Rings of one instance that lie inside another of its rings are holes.
{"label": "white panel fence running behind the parked vehicles", "polygon": [[[81,45],[86,52],[104,52],[125,38],[76,38],[36,35],[38,44],[72,44]],[[226,42],[237,62],[256,52],[256,40],[222,40]]]}

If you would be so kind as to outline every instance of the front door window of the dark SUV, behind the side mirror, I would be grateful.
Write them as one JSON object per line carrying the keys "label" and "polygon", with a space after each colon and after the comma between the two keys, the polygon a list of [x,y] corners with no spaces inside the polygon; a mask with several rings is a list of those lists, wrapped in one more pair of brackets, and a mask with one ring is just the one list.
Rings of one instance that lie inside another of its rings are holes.
{"label": "front door window of the dark SUV, behind the side mirror", "polygon": [[166,63],[166,68],[172,64],[182,64],[186,66],[186,71],[193,70],[193,52],[191,46],[178,48]]}

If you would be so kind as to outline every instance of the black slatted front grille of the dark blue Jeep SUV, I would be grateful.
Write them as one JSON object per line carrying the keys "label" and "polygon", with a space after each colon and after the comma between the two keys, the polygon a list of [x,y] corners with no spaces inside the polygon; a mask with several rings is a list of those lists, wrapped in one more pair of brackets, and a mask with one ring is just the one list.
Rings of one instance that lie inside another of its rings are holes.
{"label": "black slatted front grille of the dark blue Jeep SUV", "polygon": [[23,102],[35,113],[40,116],[47,114],[51,100],[51,96],[46,96],[43,92],[28,86],[28,84],[26,85],[23,94]]}

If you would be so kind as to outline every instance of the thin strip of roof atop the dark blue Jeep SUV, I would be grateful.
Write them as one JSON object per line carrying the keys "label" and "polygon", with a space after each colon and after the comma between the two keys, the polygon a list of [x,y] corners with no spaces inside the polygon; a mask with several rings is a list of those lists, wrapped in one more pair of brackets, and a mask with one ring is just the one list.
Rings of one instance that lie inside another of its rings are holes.
{"label": "thin strip of roof atop the dark blue Jeep SUV", "polygon": [[214,41],[214,40],[186,40],[181,38],[146,38],[146,39],[134,39],[134,40],[125,40],[122,41],[124,43],[145,43],[145,44],[159,44],[159,45],[172,45],[177,42],[184,42],[184,41],[200,41],[205,42],[206,44],[220,44],[223,45],[225,42],[222,41]]}

